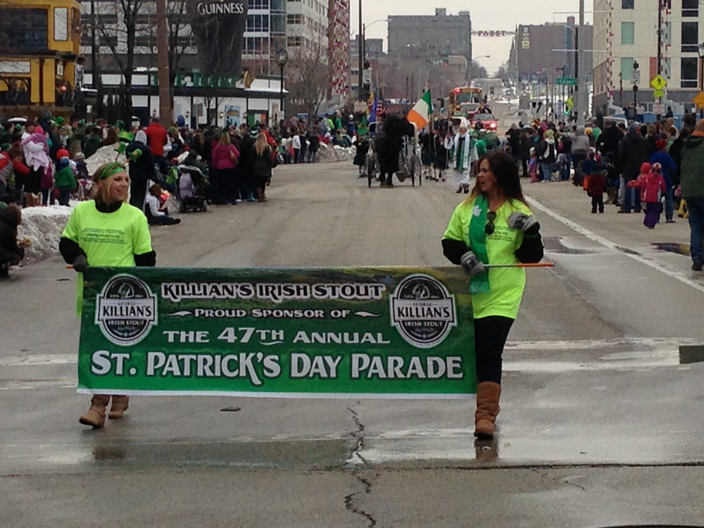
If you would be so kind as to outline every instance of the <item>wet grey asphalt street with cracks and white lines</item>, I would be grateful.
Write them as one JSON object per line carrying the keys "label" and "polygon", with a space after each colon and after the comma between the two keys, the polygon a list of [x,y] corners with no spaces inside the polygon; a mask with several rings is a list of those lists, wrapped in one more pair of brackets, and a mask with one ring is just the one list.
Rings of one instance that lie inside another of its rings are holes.
{"label": "wet grey asphalt street with cracks and white lines", "polygon": [[[614,206],[591,215],[569,183],[524,190],[556,265],[529,271],[493,444],[474,444],[461,401],[142,397],[89,430],[74,273],[13,272],[0,527],[704,525],[704,365],[679,364],[704,343],[704,276],[658,249],[689,241],[686,221],[648,231]],[[463,198],[367,189],[346,163],[279,168],[268,194],[153,230],[158,265],[446,265]]]}

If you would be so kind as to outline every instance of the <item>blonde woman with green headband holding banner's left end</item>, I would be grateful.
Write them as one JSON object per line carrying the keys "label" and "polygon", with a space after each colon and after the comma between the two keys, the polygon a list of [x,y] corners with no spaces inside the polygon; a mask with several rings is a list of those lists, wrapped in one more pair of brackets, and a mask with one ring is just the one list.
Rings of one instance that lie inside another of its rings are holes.
{"label": "blonde woman with green headband holding banner's left end", "polygon": [[[108,163],[93,176],[96,196],[80,203],[71,213],[61,234],[58,249],[64,260],[81,274],[78,279],[78,309],[82,306],[83,278],[89,265],[153,266],[156,253],[151,249],[151,235],[146,216],[127,203],[130,177],[125,165]],[[105,425],[105,411],[111,396],[94,394],[90,409],[80,417],[83,425],[99,429]],[[128,396],[112,396],[111,420],[122,418],[130,403]]]}

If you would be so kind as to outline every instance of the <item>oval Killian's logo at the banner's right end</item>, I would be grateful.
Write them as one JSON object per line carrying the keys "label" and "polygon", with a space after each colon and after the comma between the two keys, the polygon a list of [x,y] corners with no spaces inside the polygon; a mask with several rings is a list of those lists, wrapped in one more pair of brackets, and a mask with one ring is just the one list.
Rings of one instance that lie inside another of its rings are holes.
{"label": "oval Killian's logo at the banner's right end", "polygon": [[439,280],[410,275],[391,296],[391,325],[417,348],[439,345],[457,326],[455,298]]}

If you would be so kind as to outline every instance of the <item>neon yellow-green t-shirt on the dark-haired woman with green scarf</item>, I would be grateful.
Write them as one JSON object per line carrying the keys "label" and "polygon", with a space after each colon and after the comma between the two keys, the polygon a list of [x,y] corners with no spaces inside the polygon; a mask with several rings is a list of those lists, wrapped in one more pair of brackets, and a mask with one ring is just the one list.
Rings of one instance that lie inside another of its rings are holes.
{"label": "neon yellow-green t-shirt on the dark-haired woman with green scarf", "polygon": [[[461,240],[467,247],[470,244],[470,220],[474,210],[474,201],[465,205],[460,203],[452,214],[444,239]],[[496,211],[496,229],[494,234],[486,236],[486,253],[489,264],[517,264],[516,251],[523,243],[523,232],[508,227],[508,217],[515,211],[532,215],[530,208],[522,201],[507,200]],[[472,295],[474,319],[491,315],[501,315],[515,319],[518,316],[526,286],[526,273],[522,268],[491,268],[489,270],[488,294]]]}

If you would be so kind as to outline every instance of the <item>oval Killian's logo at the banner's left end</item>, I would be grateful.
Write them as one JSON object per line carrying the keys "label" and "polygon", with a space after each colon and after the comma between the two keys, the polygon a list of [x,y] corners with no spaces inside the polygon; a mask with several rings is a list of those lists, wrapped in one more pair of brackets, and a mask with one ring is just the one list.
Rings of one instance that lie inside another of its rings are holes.
{"label": "oval Killian's logo at the banner's left end", "polygon": [[132,275],[115,275],[98,295],[95,324],[118,346],[142,341],[157,324],[156,296]]}

